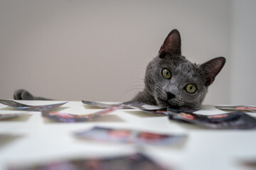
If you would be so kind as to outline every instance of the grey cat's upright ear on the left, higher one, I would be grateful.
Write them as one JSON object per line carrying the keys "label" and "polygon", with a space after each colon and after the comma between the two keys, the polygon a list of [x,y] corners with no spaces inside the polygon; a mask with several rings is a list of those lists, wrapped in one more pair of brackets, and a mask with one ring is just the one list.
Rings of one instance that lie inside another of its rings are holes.
{"label": "grey cat's upright ear on the left, higher one", "polygon": [[164,40],[164,44],[159,50],[159,57],[166,55],[181,55],[181,35],[178,30],[172,30]]}

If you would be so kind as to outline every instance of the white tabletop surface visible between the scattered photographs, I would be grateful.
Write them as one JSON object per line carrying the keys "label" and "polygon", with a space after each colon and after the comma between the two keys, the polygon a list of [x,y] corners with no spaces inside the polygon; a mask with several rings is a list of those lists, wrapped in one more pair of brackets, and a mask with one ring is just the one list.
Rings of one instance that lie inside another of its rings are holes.
{"label": "white tabletop surface visible between the scattered photographs", "polygon": [[[63,101],[18,101],[28,105],[43,105]],[[213,106],[203,106],[201,114],[225,113]],[[57,109],[62,113],[95,113],[101,109],[70,101]],[[20,118],[1,120],[0,134],[14,135],[0,142],[0,169],[6,164],[32,164],[74,157],[99,157],[144,152],[167,167],[177,169],[211,170],[246,169],[240,161],[256,159],[256,130],[210,130],[177,123],[166,116],[155,116],[137,110],[118,110],[90,123],[50,123],[41,112],[19,111],[0,104],[0,113],[24,113]],[[250,113],[256,116],[256,113]],[[177,145],[135,145],[78,140],[73,132],[105,127],[131,128],[170,134],[186,134]]]}

